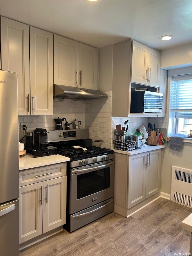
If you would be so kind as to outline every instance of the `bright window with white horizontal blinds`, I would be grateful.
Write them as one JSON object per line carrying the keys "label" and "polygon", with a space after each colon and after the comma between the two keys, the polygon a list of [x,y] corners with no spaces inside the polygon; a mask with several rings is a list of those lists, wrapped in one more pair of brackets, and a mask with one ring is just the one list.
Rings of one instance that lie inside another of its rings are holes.
{"label": "bright window with white horizontal blinds", "polygon": [[175,116],[175,133],[188,135],[192,129],[192,74],[172,77],[170,108]]}

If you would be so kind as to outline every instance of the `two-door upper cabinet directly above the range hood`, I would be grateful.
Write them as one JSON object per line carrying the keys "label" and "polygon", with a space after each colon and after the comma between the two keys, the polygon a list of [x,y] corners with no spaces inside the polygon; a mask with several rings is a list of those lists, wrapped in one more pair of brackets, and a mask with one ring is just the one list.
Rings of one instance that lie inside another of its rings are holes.
{"label": "two-door upper cabinet directly above the range hood", "polygon": [[54,35],[54,84],[98,88],[98,49]]}

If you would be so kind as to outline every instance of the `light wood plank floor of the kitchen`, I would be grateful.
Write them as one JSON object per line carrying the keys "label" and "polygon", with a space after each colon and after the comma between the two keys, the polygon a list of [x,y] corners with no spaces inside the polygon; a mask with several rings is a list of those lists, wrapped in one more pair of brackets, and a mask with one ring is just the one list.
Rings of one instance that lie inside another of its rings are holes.
{"label": "light wood plank floor of the kitchen", "polygon": [[112,212],[73,233],[62,231],[20,251],[20,256],[170,256],[189,253],[181,225],[192,208],[164,198],[129,218]]}

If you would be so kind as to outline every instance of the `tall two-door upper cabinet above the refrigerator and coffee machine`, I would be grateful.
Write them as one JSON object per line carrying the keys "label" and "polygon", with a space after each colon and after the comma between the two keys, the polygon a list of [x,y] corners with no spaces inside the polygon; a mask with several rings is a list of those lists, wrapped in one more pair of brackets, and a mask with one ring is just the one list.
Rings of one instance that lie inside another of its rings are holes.
{"label": "tall two-door upper cabinet above the refrigerator and coffee machine", "polygon": [[29,41],[28,25],[1,17],[1,62],[18,73],[19,115],[52,115],[53,34],[30,27]]}

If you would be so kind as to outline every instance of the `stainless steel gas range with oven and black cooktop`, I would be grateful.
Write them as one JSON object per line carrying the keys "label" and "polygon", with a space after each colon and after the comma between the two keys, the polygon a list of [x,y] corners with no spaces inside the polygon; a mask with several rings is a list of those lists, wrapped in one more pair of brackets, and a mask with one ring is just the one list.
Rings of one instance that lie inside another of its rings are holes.
{"label": "stainless steel gas range with oven and black cooktop", "polygon": [[114,154],[97,146],[84,147],[88,129],[49,131],[49,146],[70,157],[67,163],[67,224],[72,232],[113,212]]}

